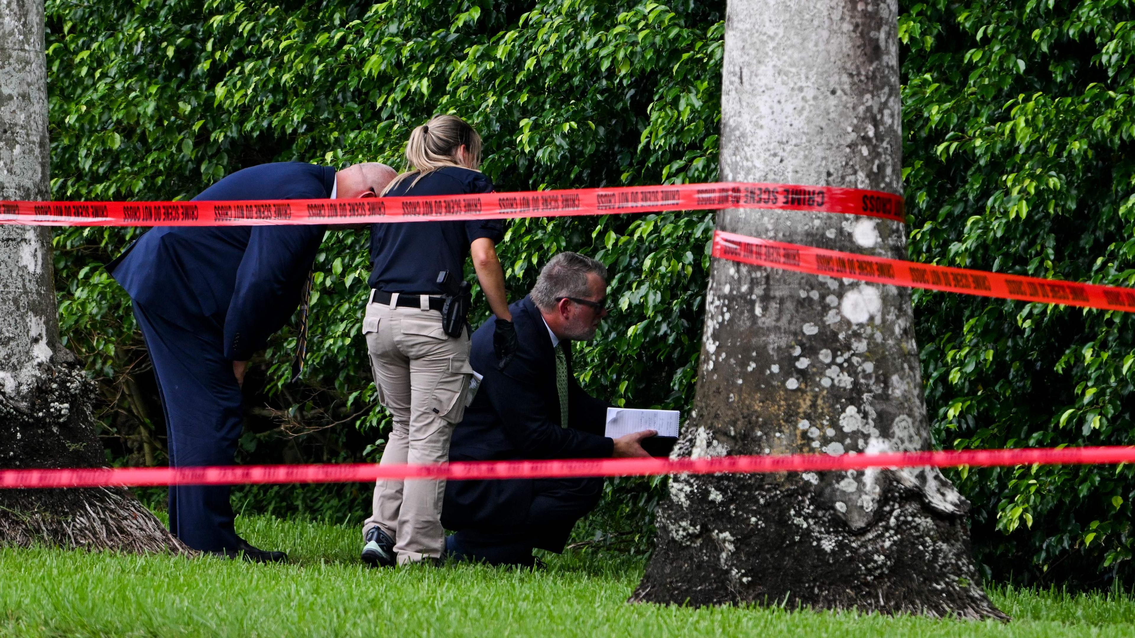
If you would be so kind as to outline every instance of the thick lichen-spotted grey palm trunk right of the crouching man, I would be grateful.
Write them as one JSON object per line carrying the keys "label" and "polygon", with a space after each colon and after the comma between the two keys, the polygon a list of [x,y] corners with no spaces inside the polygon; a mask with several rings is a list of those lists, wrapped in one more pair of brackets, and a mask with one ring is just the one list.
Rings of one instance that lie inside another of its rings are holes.
{"label": "thick lichen-spotted grey palm trunk right of the crouching man", "polygon": [[[722,177],[901,192],[893,0],[734,0]],[[741,85],[746,77],[763,78]],[[718,229],[905,258],[902,224],[723,211]],[[909,291],[715,261],[697,395],[674,454],[930,446]],[[968,504],[934,469],[682,476],[631,601],[1004,618],[969,552]]]}

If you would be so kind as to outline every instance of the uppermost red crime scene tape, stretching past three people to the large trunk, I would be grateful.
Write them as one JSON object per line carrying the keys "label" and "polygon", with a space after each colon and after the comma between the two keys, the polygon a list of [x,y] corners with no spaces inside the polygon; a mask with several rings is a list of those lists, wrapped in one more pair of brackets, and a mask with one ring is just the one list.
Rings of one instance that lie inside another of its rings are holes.
{"label": "uppermost red crime scene tape, stretching past three people to the large trunk", "polygon": [[0,224],[36,226],[253,226],[460,221],[763,208],[865,215],[903,221],[901,195],[792,184],[675,184],[521,193],[236,202],[9,202]]}

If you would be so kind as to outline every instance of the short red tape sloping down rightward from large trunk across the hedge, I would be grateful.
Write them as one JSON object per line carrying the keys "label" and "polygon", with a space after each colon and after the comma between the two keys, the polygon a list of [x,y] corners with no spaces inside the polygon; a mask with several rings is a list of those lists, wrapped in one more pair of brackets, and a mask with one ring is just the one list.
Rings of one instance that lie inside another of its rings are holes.
{"label": "short red tape sloping down rightward from large trunk across the hedge", "polygon": [[717,230],[713,255],[783,270],[967,295],[1135,312],[1135,289],[868,257]]}

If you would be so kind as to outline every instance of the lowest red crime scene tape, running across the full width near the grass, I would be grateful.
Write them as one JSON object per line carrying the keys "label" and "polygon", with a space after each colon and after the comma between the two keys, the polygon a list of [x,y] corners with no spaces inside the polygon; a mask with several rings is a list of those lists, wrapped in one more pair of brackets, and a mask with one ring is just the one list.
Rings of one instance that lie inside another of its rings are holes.
{"label": "lowest red crime scene tape, running across the full width near the grass", "polygon": [[159,485],[370,482],[376,479],[533,479],[655,475],[716,475],[863,470],[867,468],[1095,464],[1135,461],[1135,447],[1061,447],[890,452],[884,454],[787,454],[712,459],[568,459],[462,461],[436,465],[371,463],[222,465],[211,468],[91,468],[0,470],[0,488]]}

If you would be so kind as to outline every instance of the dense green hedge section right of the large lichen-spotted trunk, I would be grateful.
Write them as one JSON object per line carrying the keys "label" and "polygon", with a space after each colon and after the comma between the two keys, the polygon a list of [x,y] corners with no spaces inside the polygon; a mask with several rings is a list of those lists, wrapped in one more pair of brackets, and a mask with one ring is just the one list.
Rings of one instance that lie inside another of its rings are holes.
{"label": "dense green hedge section right of the large lichen-spotted trunk", "polygon": [[[1135,284],[1129,2],[911,3],[903,110],[911,259]],[[1133,443],[1132,317],[916,294],[935,437]],[[1000,573],[1093,581],[1132,556],[1129,467],[957,475]],[[1115,573],[1115,572],[1112,572]]]}

